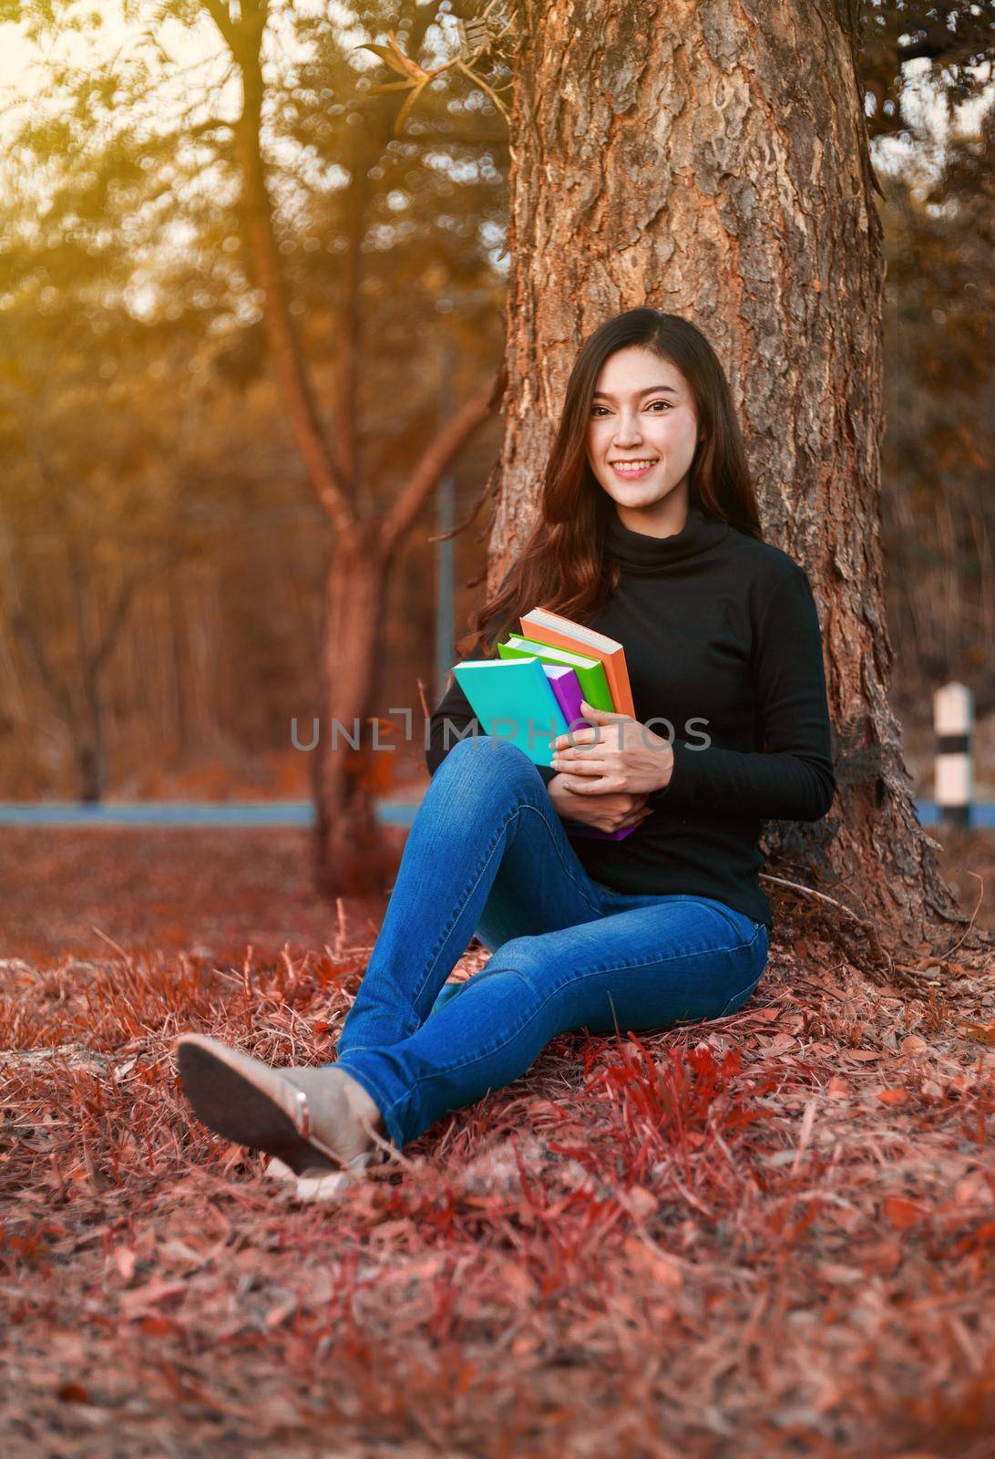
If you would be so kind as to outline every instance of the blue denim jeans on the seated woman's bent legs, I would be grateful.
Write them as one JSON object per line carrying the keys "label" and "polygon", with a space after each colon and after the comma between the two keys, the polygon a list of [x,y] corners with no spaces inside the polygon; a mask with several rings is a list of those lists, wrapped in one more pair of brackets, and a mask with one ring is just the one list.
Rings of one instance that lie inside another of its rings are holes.
{"label": "blue denim jeans on the seated woman's bent legs", "polygon": [[[489,961],[446,985],[474,932]],[[766,924],[713,897],[594,881],[528,756],[460,740],[411,823],[336,1062],[400,1148],[511,1084],[557,1033],[735,1013],[766,961]]]}

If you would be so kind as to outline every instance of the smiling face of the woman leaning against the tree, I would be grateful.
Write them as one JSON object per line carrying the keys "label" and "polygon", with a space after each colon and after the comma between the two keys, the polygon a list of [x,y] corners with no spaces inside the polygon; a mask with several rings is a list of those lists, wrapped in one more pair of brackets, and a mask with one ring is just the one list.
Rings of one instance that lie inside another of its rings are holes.
{"label": "smiling face of the woman leaning against the tree", "polygon": [[[591,401],[588,460],[624,527],[667,537],[687,518],[697,411],[687,381],[640,344],[605,360]],[[640,463],[635,470],[624,465]]]}

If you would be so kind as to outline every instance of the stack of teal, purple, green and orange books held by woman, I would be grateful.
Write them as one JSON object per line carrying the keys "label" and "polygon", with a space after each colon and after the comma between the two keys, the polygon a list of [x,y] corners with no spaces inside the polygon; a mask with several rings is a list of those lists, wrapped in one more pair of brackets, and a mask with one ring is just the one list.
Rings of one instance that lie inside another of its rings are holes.
{"label": "stack of teal, purple, green and orange books held by woman", "polygon": [[[582,699],[635,718],[622,643],[547,608],[533,608],[519,623],[521,633],[498,645],[498,658],[464,659],[452,670],[484,734],[516,744],[533,765],[551,765],[553,740],[591,724]],[[600,840],[623,840],[635,830],[568,824],[572,836]]]}

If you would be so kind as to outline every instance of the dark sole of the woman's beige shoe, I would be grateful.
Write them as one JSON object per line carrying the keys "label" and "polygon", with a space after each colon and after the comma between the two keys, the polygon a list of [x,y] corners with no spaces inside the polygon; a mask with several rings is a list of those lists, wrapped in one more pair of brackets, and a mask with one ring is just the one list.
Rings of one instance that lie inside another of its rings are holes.
{"label": "dark sole of the woman's beige shoe", "polygon": [[197,1043],[179,1040],[177,1064],[184,1094],[197,1119],[225,1139],[266,1150],[299,1176],[312,1170],[346,1169],[305,1139],[290,1116],[223,1058]]}

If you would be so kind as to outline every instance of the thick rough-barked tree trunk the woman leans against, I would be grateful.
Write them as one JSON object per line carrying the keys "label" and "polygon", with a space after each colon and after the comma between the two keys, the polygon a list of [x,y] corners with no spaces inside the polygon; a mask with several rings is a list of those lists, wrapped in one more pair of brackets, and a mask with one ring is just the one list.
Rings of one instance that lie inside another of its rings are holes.
{"label": "thick rough-barked tree trunk the woman leans against", "polygon": [[894,944],[948,943],[967,919],[888,708],[884,268],[849,6],[605,0],[578,25],[519,0],[518,22],[490,585],[528,531],[582,338],[642,303],[693,320],[727,369],[766,537],[808,570],[823,624],[839,794],[824,821],[767,824],[767,871],[820,883]]}

